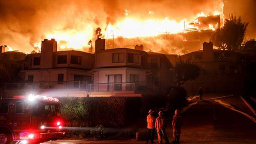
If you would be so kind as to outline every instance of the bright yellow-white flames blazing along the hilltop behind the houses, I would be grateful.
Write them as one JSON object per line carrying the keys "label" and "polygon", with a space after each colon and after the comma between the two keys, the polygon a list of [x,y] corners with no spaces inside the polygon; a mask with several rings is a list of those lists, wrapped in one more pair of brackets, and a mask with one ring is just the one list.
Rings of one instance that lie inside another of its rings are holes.
{"label": "bright yellow-white flames blazing along the hilltop behind the houses", "polygon": [[[130,10],[124,10],[124,17],[117,19],[114,24],[108,24],[104,30],[102,28],[101,33],[106,39],[116,38],[116,37],[145,37],[145,36],[156,36],[159,34],[167,33],[179,33],[185,32],[184,28],[195,28],[201,30],[194,25],[190,25],[189,22],[193,19],[183,19],[180,21],[173,20],[169,17],[163,19],[146,19],[142,20],[136,17],[129,16]],[[149,15],[153,15],[153,11],[149,11]],[[218,11],[214,11],[212,14],[220,14]],[[207,16],[203,11],[196,15]],[[196,17],[194,17],[195,19]],[[199,23],[200,24],[200,23]],[[215,30],[216,25],[209,24],[209,29]],[[91,29],[79,29],[79,30],[55,30],[53,32],[46,33],[46,38],[54,38],[58,42],[58,48],[60,49],[86,49],[89,50],[90,45],[88,45],[89,40],[93,40],[94,29],[95,27],[91,26]],[[34,47],[37,49],[41,48],[41,42],[35,43]]]}

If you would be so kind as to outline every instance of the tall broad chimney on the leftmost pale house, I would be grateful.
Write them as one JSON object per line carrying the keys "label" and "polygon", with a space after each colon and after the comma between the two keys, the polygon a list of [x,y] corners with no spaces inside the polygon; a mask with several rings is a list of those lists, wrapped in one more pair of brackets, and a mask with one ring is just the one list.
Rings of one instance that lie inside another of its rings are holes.
{"label": "tall broad chimney on the leftmost pale house", "polygon": [[57,41],[55,39],[44,39],[41,45],[40,68],[53,67],[53,52],[57,51]]}

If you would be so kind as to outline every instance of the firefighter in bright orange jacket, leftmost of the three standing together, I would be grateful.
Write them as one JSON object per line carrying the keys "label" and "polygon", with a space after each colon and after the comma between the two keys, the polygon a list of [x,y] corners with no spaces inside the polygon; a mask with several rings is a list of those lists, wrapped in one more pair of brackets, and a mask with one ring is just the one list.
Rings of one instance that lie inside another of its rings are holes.
{"label": "firefighter in bright orange jacket, leftmost of the three standing together", "polygon": [[156,117],[154,116],[154,111],[152,109],[149,110],[149,115],[147,116],[147,128],[148,128],[148,135],[146,139],[146,143],[149,142],[149,139],[151,140],[151,143],[154,143],[154,135],[155,135],[155,121]]}

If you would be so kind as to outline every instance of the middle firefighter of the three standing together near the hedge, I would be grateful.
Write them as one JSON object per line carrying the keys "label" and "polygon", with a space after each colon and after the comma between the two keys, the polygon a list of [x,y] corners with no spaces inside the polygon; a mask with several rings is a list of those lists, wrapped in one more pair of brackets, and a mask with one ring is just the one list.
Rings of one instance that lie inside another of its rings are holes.
{"label": "middle firefighter of the three standing together near the hedge", "polygon": [[166,118],[163,116],[163,112],[158,112],[158,117],[156,119],[155,128],[157,129],[158,142],[162,144],[162,139],[165,139],[165,143],[169,144],[169,140],[165,131],[166,128]]}

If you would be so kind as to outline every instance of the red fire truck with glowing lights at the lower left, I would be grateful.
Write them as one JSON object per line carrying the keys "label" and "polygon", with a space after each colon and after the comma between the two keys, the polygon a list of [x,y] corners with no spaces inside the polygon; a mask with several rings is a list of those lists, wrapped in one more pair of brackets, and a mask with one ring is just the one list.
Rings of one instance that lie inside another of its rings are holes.
{"label": "red fire truck with glowing lights at the lower left", "polygon": [[0,144],[64,137],[59,99],[33,95],[0,99]]}

